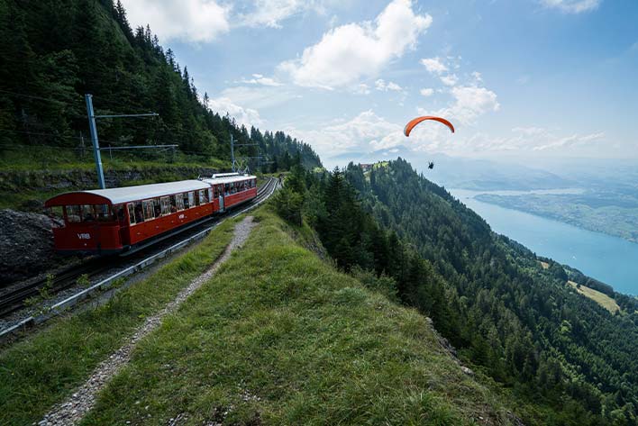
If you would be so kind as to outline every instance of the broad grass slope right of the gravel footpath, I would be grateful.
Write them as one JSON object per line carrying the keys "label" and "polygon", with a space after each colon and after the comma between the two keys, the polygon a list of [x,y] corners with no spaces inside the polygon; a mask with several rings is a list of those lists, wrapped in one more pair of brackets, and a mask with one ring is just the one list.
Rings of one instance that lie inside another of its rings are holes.
{"label": "broad grass slope right of the gravel footpath", "polygon": [[244,248],[141,341],[83,424],[511,421],[423,315],[305,249],[307,228],[268,208],[257,220]]}

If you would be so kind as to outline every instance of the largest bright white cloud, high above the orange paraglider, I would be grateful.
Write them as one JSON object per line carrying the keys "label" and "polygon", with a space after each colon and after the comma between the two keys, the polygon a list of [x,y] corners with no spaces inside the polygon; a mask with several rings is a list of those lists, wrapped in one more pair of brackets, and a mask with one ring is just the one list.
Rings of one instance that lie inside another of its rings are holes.
{"label": "largest bright white cloud, high above the orange paraglider", "polygon": [[393,0],[374,22],[336,27],[306,48],[301,58],[287,60],[279,69],[298,86],[347,86],[378,74],[391,60],[403,56],[431,23],[430,15],[413,12],[411,0]]}

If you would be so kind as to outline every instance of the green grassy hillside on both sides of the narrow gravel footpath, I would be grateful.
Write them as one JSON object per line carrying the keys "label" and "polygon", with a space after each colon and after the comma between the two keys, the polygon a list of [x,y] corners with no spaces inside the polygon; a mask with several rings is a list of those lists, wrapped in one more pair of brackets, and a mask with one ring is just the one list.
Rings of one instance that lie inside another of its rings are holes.
{"label": "green grassy hillside on both sides of the narrow gravel footpath", "polygon": [[[269,207],[255,216],[245,246],[140,342],[82,424],[516,424],[509,396],[463,372],[422,314],[307,249],[307,226]],[[0,352],[0,422],[39,421],[72,393],[219,256],[232,225],[104,307]]]}

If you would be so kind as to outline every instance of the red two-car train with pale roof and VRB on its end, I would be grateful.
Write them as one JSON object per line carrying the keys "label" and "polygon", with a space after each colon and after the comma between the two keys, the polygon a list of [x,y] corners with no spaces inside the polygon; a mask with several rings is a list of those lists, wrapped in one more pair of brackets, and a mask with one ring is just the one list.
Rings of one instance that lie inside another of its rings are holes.
{"label": "red two-car train with pale roof and VRB on its end", "polygon": [[201,180],[70,192],[44,205],[61,209],[64,218],[64,226],[53,229],[56,250],[109,254],[140,248],[256,196],[256,177],[226,173]]}

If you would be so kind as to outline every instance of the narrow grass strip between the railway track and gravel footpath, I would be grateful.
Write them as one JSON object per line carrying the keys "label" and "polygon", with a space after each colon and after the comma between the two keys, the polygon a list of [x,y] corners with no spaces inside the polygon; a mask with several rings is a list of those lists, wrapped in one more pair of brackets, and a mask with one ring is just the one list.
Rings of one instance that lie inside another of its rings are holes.
{"label": "narrow grass strip between the railway track and gravel footpath", "polygon": [[196,248],[123,290],[108,304],[53,320],[42,331],[0,348],[0,424],[40,421],[84,383],[145,319],[169,303],[218,258],[232,238],[226,221]]}

